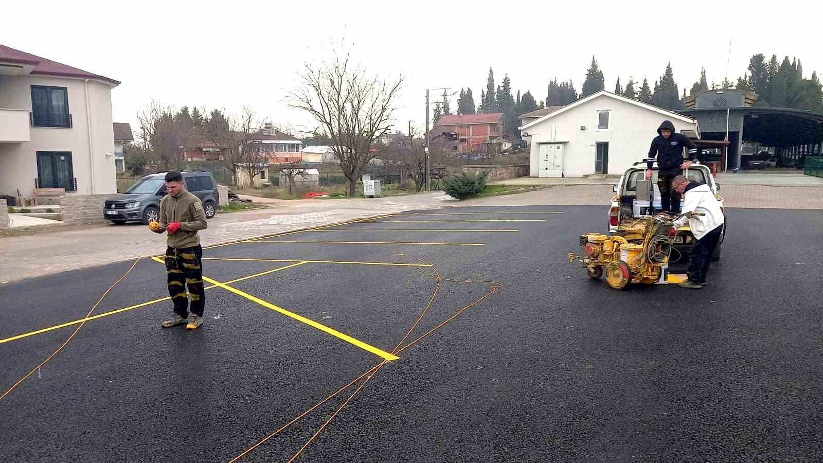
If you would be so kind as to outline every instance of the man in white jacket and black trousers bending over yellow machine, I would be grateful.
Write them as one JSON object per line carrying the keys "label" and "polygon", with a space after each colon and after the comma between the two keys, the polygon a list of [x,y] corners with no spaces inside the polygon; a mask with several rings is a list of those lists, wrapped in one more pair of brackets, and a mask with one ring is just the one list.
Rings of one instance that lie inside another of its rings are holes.
{"label": "man in white jacket and black trousers bending over yellow machine", "polygon": [[686,271],[689,279],[679,283],[679,286],[700,289],[706,284],[709,264],[720,241],[720,233],[723,232],[723,210],[709,185],[691,182],[683,175],[678,175],[672,179],[672,189],[684,195],[681,213],[704,213],[701,216],[688,214],[672,223],[673,227],[679,228],[689,221],[691,234],[697,240],[691,250],[689,269]]}

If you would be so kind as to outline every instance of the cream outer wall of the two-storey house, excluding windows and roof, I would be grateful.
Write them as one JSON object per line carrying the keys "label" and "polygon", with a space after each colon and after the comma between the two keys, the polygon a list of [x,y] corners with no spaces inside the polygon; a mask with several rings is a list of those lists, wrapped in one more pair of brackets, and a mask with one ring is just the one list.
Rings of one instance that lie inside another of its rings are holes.
{"label": "cream outer wall of the two-storey house, excluding windows and roof", "polygon": [[[72,153],[72,173],[77,178],[78,194],[115,193],[113,86],[89,81],[90,111],[86,111],[86,82],[82,79],[0,76],[0,107],[30,111],[32,85],[67,88],[72,127],[31,127],[30,142],[0,143],[0,192],[16,194],[16,189],[20,189],[23,196],[31,197],[37,178],[36,153],[46,151]],[[112,156],[107,157],[107,152]]]}

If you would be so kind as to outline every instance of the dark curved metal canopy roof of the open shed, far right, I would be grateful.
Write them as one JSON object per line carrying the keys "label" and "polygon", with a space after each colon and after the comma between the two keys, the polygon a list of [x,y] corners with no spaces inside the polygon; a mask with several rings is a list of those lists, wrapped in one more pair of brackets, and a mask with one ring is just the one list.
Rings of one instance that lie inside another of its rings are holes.
{"label": "dark curved metal canopy roof of the open shed, far right", "polygon": [[[743,115],[743,140],[768,147],[792,147],[823,142],[823,115],[808,110],[744,106],[729,108]],[[682,110],[682,114],[699,115],[717,109]]]}

